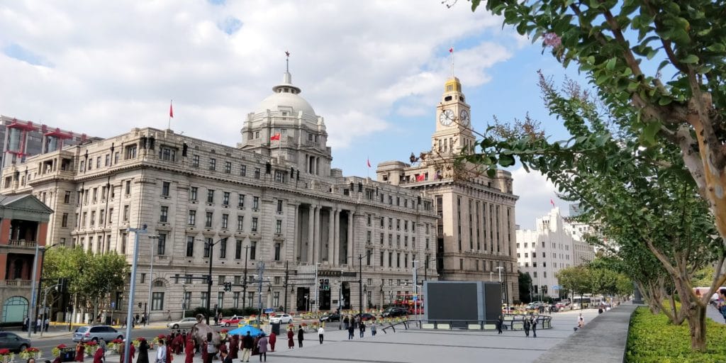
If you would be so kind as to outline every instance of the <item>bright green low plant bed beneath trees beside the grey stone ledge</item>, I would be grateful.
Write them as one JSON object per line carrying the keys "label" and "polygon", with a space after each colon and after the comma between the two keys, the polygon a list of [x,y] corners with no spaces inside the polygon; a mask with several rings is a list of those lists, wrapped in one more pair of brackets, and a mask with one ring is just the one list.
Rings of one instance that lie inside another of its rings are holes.
{"label": "bright green low plant bed beneath trees beside the grey stone ledge", "polygon": [[[709,308],[710,309],[710,308]],[[726,362],[726,325],[706,318],[705,353],[692,351],[688,323],[672,325],[663,314],[639,307],[630,319],[626,362],[709,363]]]}

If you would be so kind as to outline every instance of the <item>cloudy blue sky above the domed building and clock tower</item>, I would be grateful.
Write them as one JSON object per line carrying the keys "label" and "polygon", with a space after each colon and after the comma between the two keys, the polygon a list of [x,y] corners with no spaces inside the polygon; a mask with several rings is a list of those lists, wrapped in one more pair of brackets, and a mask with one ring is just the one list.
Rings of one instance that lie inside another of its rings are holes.
{"label": "cloudy blue sky above the domed building and clock tower", "polygon": [[[290,52],[293,84],[325,118],[333,167],[375,178],[377,163],[430,150],[451,47],[476,131],[529,113],[566,139],[537,70],[555,80],[572,70],[462,0],[4,1],[0,114],[110,137],[165,129],[173,99],[171,129],[234,146]],[[550,200],[567,211],[543,176],[510,171],[522,228]]]}

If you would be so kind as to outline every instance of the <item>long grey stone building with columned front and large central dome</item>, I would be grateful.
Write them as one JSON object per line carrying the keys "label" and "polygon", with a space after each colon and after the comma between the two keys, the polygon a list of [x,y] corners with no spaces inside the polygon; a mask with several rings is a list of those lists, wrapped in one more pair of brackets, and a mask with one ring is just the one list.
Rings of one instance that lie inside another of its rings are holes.
{"label": "long grey stone building with columned front and large central dome", "polygon": [[[331,168],[325,122],[288,70],[272,91],[236,147],[134,128],[12,163],[0,193],[43,196],[47,245],[131,264],[138,237],[134,293],[127,282],[105,296],[106,317],[125,316],[129,295],[134,314],[166,321],[206,306],[359,310],[412,292],[415,261],[435,254],[432,199]],[[417,273],[436,280],[436,266]]]}

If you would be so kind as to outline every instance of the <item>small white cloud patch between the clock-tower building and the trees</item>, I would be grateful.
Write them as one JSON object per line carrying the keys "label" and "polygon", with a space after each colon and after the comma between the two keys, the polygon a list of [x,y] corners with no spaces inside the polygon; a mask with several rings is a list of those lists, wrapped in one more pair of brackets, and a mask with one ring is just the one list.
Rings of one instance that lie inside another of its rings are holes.
{"label": "small white cloud patch between the clock-tower building and the trees", "polygon": [[520,167],[512,171],[514,194],[519,196],[515,209],[516,223],[521,229],[534,229],[537,218],[545,216],[552,209],[550,200],[560,208],[563,216],[568,215],[569,202],[557,197],[557,188],[539,171],[529,173]]}

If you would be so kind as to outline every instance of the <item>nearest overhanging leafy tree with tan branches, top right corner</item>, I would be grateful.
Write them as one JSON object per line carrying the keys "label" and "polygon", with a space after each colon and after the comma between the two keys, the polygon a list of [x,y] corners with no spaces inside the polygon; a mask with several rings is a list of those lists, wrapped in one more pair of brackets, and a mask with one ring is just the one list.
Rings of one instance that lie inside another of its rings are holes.
{"label": "nearest overhanging leafy tree with tan branches, top right corner", "polygon": [[[481,0],[472,0],[476,10]],[[680,147],[726,237],[726,9],[718,0],[487,0],[518,33],[576,62],[613,114],[648,147]],[[656,62],[659,64],[656,66]],[[661,72],[671,81],[661,81]],[[650,73],[650,74],[648,74]]]}

